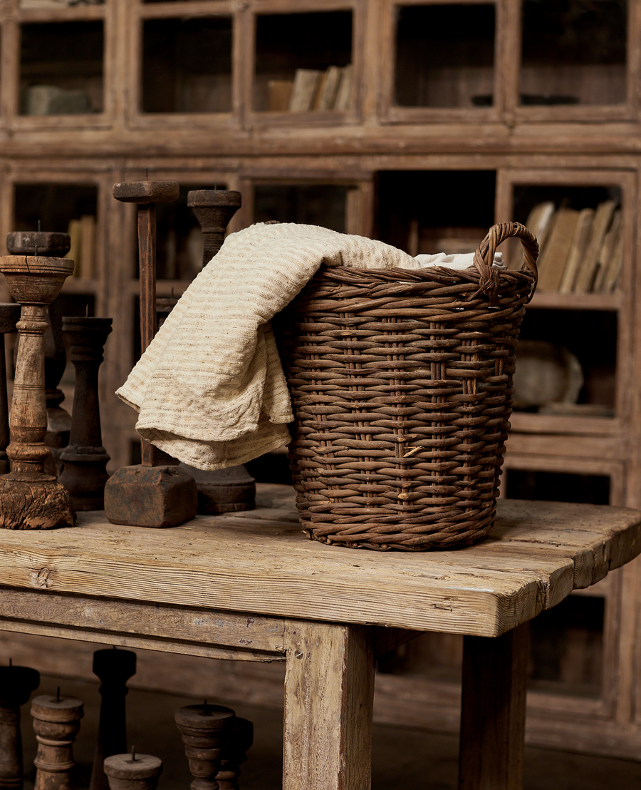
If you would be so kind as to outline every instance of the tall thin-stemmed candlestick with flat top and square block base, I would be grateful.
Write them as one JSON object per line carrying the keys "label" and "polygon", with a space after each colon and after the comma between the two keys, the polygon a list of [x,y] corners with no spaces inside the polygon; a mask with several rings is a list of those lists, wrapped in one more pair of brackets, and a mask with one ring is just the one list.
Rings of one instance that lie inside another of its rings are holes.
{"label": "tall thin-stemmed candlestick with flat top and square block base", "polygon": [[[178,182],[114,184],[114,198],[138,205],[141,350],[156,334],[156,203],[178,198]],[[159,465],[158,450],[141,440],[142,464],[123,466],[105,486],[105,515],[113,524],[173,527],[196,516],[196,483],[186,469]]]}

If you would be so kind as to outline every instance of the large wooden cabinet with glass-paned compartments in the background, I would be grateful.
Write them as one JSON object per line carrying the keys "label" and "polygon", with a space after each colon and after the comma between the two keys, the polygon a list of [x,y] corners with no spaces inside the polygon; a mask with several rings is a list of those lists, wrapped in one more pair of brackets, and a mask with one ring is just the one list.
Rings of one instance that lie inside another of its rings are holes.
{"label": "large wooden cabinet with glass-paned compartments in the background", "polygon": [[[81,228],[61,298],[114,319],[111,468],[136,457],[133,412],[113,393],[140,342],[135,209],[111,198],[114,182],[181,184],[159,207],[160,296],[198,270],[189,189],[241,190],[232,229],[311,222],[412,254],[473,250],[493,222],[545,202],[612,201],[611,287],[541,288],[523,324],[530,348],[564,349],[578,404],[522,400],[503,486],[641,506],[640,41],[641,6],[625,0],[2,3],[0,233]],[[639,604],[637,562],[541,619],[531,743],[641,756]],[[455,727],[459,654],[428,635],[388,656],[378,718]]]}

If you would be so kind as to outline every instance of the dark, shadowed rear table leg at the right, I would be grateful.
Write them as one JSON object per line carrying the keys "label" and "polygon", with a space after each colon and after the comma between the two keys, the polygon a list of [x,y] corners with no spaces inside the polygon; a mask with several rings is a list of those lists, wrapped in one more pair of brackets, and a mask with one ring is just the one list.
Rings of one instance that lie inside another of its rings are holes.
{"label": "dark, shadowed rear table leg at the right", "polygon": [[523,790],[529,623],[465,637],[459,790]]}

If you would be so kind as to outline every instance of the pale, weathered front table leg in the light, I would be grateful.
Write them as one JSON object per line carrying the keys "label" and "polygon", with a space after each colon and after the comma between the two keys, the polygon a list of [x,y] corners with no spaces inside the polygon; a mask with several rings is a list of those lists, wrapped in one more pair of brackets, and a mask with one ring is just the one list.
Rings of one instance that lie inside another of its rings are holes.
{"label": "pale, weathered front table leg in the light", "polygon": [[283,790],[369,790],[374,655],[368,626],[287,626]]}

